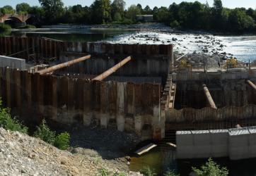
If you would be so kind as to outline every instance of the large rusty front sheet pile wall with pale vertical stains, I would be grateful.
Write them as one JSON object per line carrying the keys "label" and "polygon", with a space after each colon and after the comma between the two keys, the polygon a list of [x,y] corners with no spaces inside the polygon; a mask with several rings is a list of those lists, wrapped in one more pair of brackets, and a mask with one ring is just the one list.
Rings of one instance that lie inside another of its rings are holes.
{"label": "large rusty front sheet pile wall with pale vertical stains", "polygon": [[[98,82],[0,68],[0,96],[26,122],[42,118],[160,138],[161,84]],[[161,126],[163,125],[163,126]]]}

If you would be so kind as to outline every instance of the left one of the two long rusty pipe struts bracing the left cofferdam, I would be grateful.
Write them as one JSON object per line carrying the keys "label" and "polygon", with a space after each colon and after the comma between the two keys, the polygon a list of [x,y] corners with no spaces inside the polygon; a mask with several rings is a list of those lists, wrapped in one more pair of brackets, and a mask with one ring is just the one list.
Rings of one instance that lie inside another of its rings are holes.
{"label": "left one of the two long rusty pipe struts bracing the left cofferdam", "polygon": [[53,71],[55,71],[55,70],[59,70],[59,69],[61,69],[61,68],[68,67],[69,65],[73,65],[73,64],[79,63],[79,62],[81,62],[81,61],[86,61],[86,60],[89,59],[89,58],[91,58],[91,55],[83,56],[83,57],[81,57],[81,58],[76,58],[76,59],[74,59],[74,60],[72,60],[72,61],[68,61],[68,62],[66,62],[66,63],[61,63],[61,64],[58,64],[58,65],[54,65],[54,66],[52,66],[52,67],[50,67],[50,68],[45,68],[44,70],[40,70],[40,71],[38,71],[37,73],[40,73],[40,75],[45,75],[45,74],[51,73],[51,72],[53,72]]}

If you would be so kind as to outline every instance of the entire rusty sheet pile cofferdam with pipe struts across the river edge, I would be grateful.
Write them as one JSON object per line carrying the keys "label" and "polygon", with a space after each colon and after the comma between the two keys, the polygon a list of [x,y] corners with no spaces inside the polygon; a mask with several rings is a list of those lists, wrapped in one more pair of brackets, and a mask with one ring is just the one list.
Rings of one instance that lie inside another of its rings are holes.
{"label": "entire rusty sheet pile cofferdam with pipe struts across the river edge", "polygon": [[256,126],[255,69],[178,70],[173,45],[0,37],[0,54],[26,61],[25,70],[1,65],[0,96],[27,124],[45,118],[173,141],[180,130]]}

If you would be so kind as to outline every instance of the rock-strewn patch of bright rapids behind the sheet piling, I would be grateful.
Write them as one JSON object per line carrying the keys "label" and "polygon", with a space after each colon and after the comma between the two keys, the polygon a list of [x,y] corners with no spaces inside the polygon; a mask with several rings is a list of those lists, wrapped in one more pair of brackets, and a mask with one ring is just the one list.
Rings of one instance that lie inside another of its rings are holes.
{"label": "rock-strewn patch of bright rapids behind the sheet piling", "polygon": [[175,51],[187,54],[196,51],[204,54],[223,54],[233,56],[223,51],[226,46],[221,39],[210,34],[184,34],[171,32],[136,32],[115,37],[112,43],[127,44],[174,44]]}

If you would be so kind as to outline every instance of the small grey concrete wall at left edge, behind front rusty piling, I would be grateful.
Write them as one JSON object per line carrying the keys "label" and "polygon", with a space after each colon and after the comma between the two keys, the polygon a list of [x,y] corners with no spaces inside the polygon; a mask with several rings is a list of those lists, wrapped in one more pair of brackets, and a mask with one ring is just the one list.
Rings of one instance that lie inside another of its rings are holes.
{"label": "small grey concrete wall at left edge, behind front rusty piling", "polygon": [[0,56],[0,67],[18,68],[25,70],[25,59]]}

